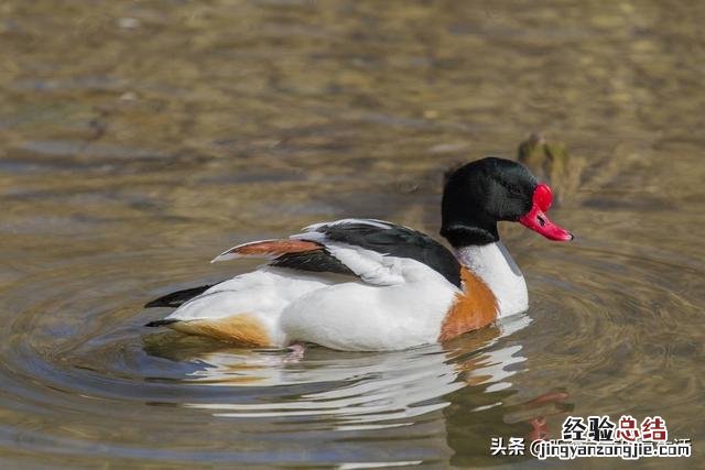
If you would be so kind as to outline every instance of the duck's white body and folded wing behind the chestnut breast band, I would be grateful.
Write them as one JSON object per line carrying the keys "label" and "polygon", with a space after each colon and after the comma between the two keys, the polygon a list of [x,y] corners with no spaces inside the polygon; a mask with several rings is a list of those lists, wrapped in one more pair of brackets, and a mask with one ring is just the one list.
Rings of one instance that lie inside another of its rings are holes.
{"label": "duck's white body and folded wing behind the chestnut breast band", "polygon": [[460,266],[447,249],[380,220],[319,223],[289,239],[235,247],[216,260],[241,256],[270,263],[209,287],[163,324],[263,342],[256,346],[311,341],[347,350],[401,349],[433,342],[459,293]]}

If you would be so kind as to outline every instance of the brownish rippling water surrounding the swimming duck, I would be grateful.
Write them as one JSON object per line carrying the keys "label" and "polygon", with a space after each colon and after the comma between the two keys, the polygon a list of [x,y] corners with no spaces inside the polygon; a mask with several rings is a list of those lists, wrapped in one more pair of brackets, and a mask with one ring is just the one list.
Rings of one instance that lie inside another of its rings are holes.
{"label": "brownish rippling water surrounding the swimming duck", "polygon": [[[694,442],[675,464],[703,466],[704,21],[665,1],[4,2],[2,467],[524,467],[490,437],[568,414],[659,414]],[[237,242],[345,216],[435,233],[442,173],[534,130],[572,152],[553,217],[578,238],[502,228],[528,313],[393,353],[142,328],[144,302],[253,267],[207,263]]]}

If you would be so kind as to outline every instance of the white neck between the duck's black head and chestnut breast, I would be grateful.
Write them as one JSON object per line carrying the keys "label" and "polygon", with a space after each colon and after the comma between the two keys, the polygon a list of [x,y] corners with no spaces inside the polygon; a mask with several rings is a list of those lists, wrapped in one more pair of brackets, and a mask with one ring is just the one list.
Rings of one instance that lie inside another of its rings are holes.
{"label": "white neck between the duck's black head and chestnut breast", "polygon": [[499,316],[519,314],[529,308],[524,276],[501,242],[455,249],[455,255],[480,276],[499,304]]}

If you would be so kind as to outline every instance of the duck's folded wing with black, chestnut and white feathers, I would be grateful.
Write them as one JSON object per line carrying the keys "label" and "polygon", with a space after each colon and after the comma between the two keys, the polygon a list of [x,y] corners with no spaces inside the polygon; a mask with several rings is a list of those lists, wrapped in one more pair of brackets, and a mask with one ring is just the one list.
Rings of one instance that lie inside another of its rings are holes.
{"label": "duck's folded wing with black, chestnut and white feathers", "polygon": [[437,271],[460,285],[455,256],[429,236],[376,219],[343,219],[316,223],[283,240],[241,244],[213,261],[262,256],[270,265],[301,271],[354,274],[373,285],[405,282],[408,260]]}

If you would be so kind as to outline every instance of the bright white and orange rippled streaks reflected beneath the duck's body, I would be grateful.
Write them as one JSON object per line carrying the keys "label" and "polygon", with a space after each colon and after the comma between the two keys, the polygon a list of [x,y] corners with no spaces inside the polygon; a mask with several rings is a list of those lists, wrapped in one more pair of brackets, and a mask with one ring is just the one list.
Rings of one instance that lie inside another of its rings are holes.
{"label": "bright white and orange rippled streaks reflected beneath the duck's body", "polygon": [[[185,403],[220,417],[335,416],[338,430],[397,427],[404,419],[446,407],[444,395],[467,385],[491,393],[510,387],[509,378],[525,361],[521,345],[497,347],[500,339],[531,323],[527,315],[501,321],[463,348],[430,345],[387,353],[340,353],[310,348],[303,358],[274,351],[216,351],[193,358],[204,368],[193,383],[213,386],[327,384],[321,391],[281,396],[279,403]],[[473,349],[468,349],[468,346]],[[458,378],[460,378],[458,380]],[[284,400],[281,400],[284,398]],[[501,404],[481,406],[485,409]],[[379,422],[397,420],[380,424]],[[401,420],[401,422],[399,422]]]}

